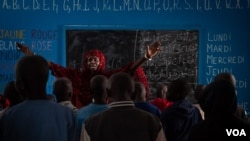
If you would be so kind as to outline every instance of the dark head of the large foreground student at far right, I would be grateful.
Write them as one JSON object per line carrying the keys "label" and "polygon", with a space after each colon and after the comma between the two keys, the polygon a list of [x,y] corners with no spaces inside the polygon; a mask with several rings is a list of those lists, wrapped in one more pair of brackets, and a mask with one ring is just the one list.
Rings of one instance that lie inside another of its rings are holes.
{"label": "dark head of the large foreground student at far right", "polygon": [[206,116],[224,112],[234,113],[237,107],[235,87],[228,80],[215,80],[205,87],[198,102]]}

